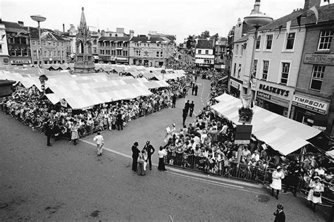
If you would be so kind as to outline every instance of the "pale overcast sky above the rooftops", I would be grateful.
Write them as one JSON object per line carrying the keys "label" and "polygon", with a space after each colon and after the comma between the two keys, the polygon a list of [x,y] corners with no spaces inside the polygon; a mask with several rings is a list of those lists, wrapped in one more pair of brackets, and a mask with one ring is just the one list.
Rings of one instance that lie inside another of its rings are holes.
{"label": "pale overcast sky above the rooftops", "polygon": [[[0,0],[2,20],[23,21],[26,26],[37,27],[30,16],[41,15],[47,20],[41,27],[68,30],[70,24],[78,27],[81,8],[85,8],[87,25],[91,30],[116,31],[147,35],[149,31],[176,35],[183,42],[188,35],[200,35],[209,30],[226,37],[237,24],[237,19],[248,16],[255,0]],[[323,1],[321,0],[321,5]],[[304,0],[261,0],[260,11],[273,19],[303,8]]]}

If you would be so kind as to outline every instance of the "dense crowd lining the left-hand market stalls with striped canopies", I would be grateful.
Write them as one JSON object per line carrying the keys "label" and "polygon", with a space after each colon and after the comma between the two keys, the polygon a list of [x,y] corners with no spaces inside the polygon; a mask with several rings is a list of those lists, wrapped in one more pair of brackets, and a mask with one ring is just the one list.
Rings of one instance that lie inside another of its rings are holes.
{"label": "dense crowd lining the left-hand market stalls with striped canopies", "polygon": [[[80,137],[100,130],[123,130],[135,118],[147,116],[161,109],[175,107],[176,99],[183,97],[190,87],[191,78],[168,80],[170,87],[154,89],[149,97],[128,101],[113,101],[99,104],[92,109],[72,111],[68,107],[53,105],[42,92],[31,87],[17,89],[11,96],[4,97],[1,108],[32,130],[39,130],[50,139],[66,138],[77,144]],[[185,90],[184,90],[185,89]]]}

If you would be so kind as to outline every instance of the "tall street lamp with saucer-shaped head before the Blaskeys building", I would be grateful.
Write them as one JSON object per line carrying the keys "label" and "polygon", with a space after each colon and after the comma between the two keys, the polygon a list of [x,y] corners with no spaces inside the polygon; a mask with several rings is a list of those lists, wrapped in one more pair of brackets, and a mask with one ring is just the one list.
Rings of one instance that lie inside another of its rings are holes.
{"label": "tall street lamp with saucer-shaped head before the Blaskeys building", "polygon": [[259,27],[264,26],[268,23],[271,23],[271,21],[273,20],[273,18],[271,18],[270,16],[266,16],[266,14],[261,13],[259,9],[260,9],[260,0],[255,0],[254,9],[252,10],[249,16],[246,16],[244,18],[245,23],[247,23],[247,25],[251,25],[255,27],[253,51],[252,51],[252,58],[251,58],[252,60],[251,60],[249,79],[248,79],[248,85],[247,85],[248,95],[252,95],[252,86],[250,82],[252,79],[252,73],[254,72],[254,56],[255,56],[256,40],[258,38]]}

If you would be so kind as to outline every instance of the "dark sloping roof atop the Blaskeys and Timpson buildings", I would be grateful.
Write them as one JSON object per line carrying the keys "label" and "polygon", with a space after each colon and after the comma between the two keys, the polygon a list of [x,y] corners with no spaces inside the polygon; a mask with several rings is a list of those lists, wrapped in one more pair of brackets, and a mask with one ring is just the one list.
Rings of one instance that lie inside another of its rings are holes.
{"label": "dark sloping roof atop the Blaskeys and Timpson buildings", "polygon": [[[314,12],[309,11],[311,15],[306,17],[307,11],[309,10],[302,9],[299,11],[294,11],[287,16],[283,16],[281,18],[273,20],[271,23],[264,25],[263,27],[260,27],[259,31],[278,29],[280,25],[282,25],[283,28],[286,28],[287,22],[290,20],[291,20],[290,27],[298,27],[297,17],[300,15],[302,15],[301,25],[315,25],[316,16],[314,15]],[[319,15],[318,24],[326,23],[326,22],[333,23],[334,22],[334,4],[319,7],[318,15]]]}

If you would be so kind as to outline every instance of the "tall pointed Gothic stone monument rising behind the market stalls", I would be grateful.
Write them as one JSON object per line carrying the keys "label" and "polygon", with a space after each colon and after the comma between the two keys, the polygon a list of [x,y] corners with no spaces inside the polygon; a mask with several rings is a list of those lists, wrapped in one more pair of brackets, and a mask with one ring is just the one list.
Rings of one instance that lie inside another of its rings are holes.
{"label": "tall pointed Gothic stone monument rising behind the market stalls", "polygon": [[87,28],[84,8],[82,7],[80,26],[75,41],[76,58],[74,73],[95,73],[92,56],[92,39]]}

